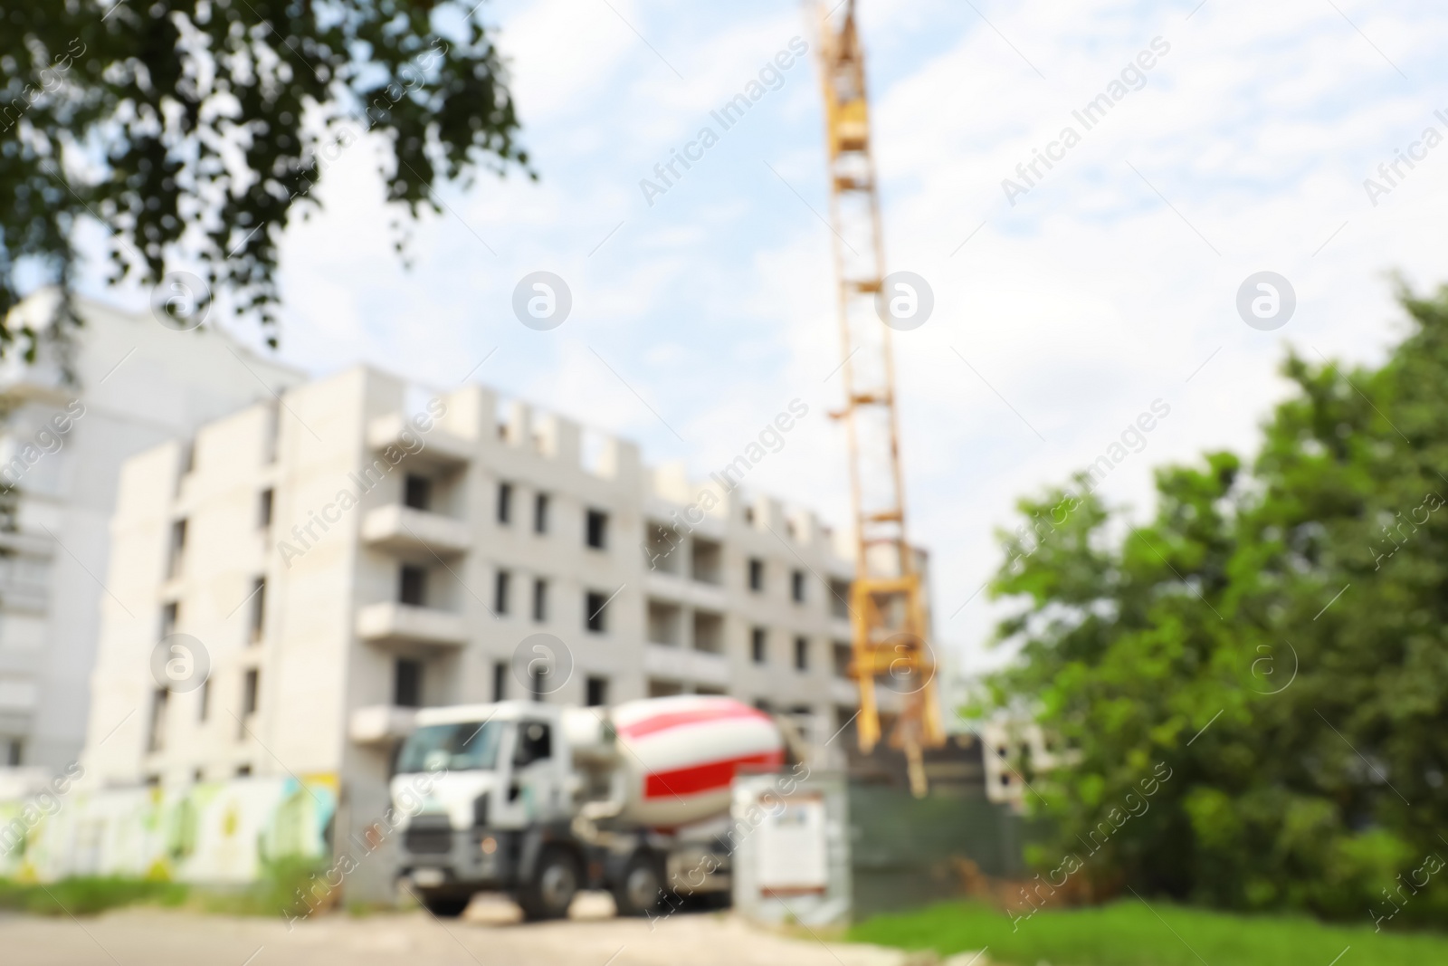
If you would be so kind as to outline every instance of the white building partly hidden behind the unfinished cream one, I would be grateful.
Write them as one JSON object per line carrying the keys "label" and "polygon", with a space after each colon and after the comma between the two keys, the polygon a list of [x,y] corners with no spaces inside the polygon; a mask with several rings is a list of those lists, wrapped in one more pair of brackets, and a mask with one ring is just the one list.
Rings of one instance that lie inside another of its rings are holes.
{"label": "white building partly hidden behind the unfinished cream one", "polygon": [[[52,306],[28,300],[12,327],[48,335]],[[214,329],[78,310],[35,362],[0,364],[0,769],[38,776],[85,739],[122,463],[306,378]]]}

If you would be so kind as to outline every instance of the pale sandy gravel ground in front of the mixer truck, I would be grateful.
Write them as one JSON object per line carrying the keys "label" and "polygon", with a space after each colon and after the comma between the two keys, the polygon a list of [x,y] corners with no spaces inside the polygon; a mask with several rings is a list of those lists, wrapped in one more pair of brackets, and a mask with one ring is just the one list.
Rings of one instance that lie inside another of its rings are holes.
{"label": "pale sandy gravel ground in front of the mixer truck", "polygon": [[[0,962],[23,966],[909,966],[873,946],[775,934],[728,914],[652,924],[589,908],[520,924],[502,904],[475,902],[462,920],[427,912],[298,921],[126,910],[97,918],[0,918]],[[604,902],[608,902],[605,898]]]}

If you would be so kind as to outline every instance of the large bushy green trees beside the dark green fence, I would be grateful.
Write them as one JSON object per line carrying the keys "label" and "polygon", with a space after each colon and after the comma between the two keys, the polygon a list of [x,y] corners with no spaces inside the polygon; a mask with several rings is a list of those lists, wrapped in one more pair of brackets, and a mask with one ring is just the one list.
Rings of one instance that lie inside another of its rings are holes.
{"label": "large bushy green trees beside the dark green fence", "polygon": [[1157,471],[1150,523],[1086,476],[1019,503],[1040,536],[1002,534],[992,592],[1021,652],[989,686],[1080,755],[1032,781],[1047,865],[1384,927],[1448,911],[1448,287],[1402,304],[1378,368],[1289,356],[1255,461]]}

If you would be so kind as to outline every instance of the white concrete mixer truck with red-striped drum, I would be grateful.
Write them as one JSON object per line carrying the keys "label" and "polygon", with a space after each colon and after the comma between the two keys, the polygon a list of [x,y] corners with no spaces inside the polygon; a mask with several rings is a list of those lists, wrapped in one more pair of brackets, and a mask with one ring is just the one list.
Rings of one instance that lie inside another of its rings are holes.
{"label": "white concrete mixer truck with red-striped drum", "polygon": [[436,915],[482,891],[529,918],[565,915],[579,889],[608,889],[621,915],[681,888],[727,896],[730,782],[783,763],[775,721],[725,697],[427,708],[391,781],[401,881]]}

